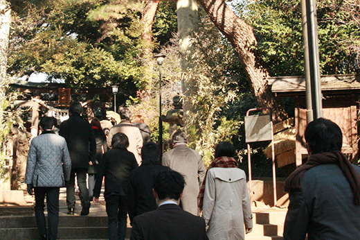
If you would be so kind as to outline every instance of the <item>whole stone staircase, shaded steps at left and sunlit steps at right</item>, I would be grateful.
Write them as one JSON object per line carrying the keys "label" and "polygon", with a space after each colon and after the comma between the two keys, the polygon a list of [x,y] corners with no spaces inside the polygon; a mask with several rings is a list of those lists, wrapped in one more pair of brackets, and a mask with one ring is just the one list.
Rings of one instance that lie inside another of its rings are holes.
{"label": "whole stone staircase, shaded steps at left and sunlit steps at right", "polygon": [[[0,216],[0,239],[38,239],[35,216],[31,211],[22,211],[24,216]],[[29,216],[29,213],[30,216]],[[287,209],[253,208],[253,231],[246,240],[282,239]],[[107,216],[94,213],[92,216],[68,216],[60,213],[58,239],[107,239]],[[128,225],[127,239],[131,228]]]}

